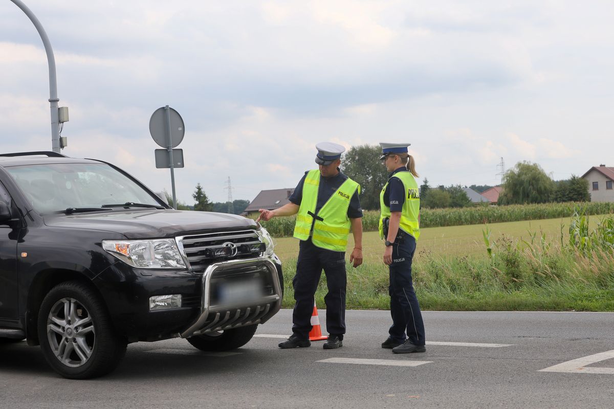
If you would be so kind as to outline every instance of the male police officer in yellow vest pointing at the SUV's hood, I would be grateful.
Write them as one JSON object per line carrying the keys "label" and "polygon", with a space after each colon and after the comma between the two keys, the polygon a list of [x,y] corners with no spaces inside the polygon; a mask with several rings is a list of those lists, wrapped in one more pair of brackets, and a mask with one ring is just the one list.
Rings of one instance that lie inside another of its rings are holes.
{"label": "male police officer in yellow vest pointing at the SUV's hood", "polygon": [[339,170],[341,153],[345,148],[336,143],[322,142],[316,145],[316,149],[319,169],[305,172],[289,197],[290,203],[275,210],[258,210],[260,216],[257,221],[298,213],[294,237],[301,241],[297,273],[292,280],[296,300],[292,335],[279,343],[279,348],[311,345],[311,314],[322,269],[328,285],[328,294],[324,297],[328,339],[324,349],[343,346],[346,331],[345,251],[350,227],[354,235],[354,249],[349,261],[353,262],[354,267],[362,264],[360,186]]}

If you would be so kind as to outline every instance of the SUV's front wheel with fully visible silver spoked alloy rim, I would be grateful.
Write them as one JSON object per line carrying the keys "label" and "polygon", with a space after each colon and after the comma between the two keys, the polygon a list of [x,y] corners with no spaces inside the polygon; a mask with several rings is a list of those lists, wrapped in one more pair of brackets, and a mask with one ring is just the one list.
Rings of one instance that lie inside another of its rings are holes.
{"label": "SUV's front wheel with fully visible silver spoked alloy rim", "polygon": [[126,353],[126,339],[115,334],[103,301],[79,281],[61,283],[45,296],[38,334],[45,359],[64,378],[106,375]]}

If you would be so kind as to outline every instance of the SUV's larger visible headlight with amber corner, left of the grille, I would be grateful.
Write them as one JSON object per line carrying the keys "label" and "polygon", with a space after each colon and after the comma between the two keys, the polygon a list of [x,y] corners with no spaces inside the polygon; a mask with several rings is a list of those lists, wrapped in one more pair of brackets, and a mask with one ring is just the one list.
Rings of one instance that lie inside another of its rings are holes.
{"label": "SUV's larger visible headlight with amber corner, left of the grille", "polygon": [[184,269],[174,239],[103,240],[103,248],[130,266],[144,269]]}

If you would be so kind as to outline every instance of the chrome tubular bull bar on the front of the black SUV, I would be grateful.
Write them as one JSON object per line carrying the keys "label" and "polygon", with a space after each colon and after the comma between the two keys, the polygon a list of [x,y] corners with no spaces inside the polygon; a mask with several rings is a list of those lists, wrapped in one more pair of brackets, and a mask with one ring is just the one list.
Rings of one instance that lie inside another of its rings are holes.
{"label": "chrome tubular bull bar on the front of the black SUV", "polygon": [[[261,277],[267,291],[247,303],[225,304],[220,302],[214,294],[216,281],[239,277],[242,274]],[[281,308],[282,288],[278,271],[275,264],[268,258],[258,257],[211,264],[203,273],[201,287],[200,315],[179,334],[182,338],[262,324]]]}

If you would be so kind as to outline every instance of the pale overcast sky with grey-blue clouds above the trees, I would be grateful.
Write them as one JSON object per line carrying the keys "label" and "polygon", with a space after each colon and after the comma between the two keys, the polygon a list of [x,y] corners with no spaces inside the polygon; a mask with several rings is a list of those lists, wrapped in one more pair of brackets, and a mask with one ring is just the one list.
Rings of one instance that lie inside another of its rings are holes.
{"label": "pale overcast sky with grey-blue clouds above the trees", "polygon": [[[501,158],[555,180],[614,166],[612,1],[24,0],[52,42],[65,155],[156,191],[149,118],[185,121],[179,201],[252,200],[314,169],[315,144],[410,142],[430,185],[499,183]],[[2,151],[51,150],[49,74],[0,0]],[[421,182],[421,181],[419,181]]]}

